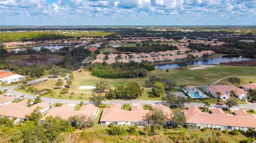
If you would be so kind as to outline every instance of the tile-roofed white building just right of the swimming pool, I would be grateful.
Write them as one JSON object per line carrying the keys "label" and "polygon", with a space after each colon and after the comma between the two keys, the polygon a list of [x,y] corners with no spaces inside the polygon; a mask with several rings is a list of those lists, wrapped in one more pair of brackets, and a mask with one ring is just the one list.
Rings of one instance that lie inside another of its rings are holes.
{"label": "tile-roofed white building just right of the swimming pool", "polygon": [[[229,98],[231,90],[235,92],[235,96],[239,99],[247,98],[247,92],[234,85],[213,85],[207,87],[207,92],[209,92],[209,94],[215,98],[219,97],[221,99]],[[220,95],[218,95],[217,92],[220,92]]]}

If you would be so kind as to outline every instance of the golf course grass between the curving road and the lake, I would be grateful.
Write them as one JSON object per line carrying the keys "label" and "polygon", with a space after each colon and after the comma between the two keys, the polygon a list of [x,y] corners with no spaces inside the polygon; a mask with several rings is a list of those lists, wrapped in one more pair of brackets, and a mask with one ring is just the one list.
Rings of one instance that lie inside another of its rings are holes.
{"label": "golf course grass between the curving road and the lake", "polygon": [[[89,71],[85,69],[82,72],[75,72],[73,80],[73,84],[71,85],[69,91],[75,92],[75,97],[72,99],[76,100],[87,100],[90,97],[90,93],[85,93],[83,98],[79,98],[81,93],[79,92],[90,92],[90,89],[79,89],[80,86],[95,86],[95,83],[103,80],[108,81],[111,87],[114,85],[120,84],[127,84],[129,82],[137,82],[139,85],[144,86],[145,80],[148,79],[151,75],[156,75],[156,77],[166,78],[177,83],[177,87],[180,85],[193,85],[193,86],[201,86],[201,85],[210,85],[214,81],[228,76],[244,76],[244,77],[251,77],[255,76],[256,74],[256,67],[249,67],[249,66],[220,66],[216,65],[213,68],[206,68],[206,69],[199,69],[199,70],[189,70],[189,68],[193,68],[195,66],[188,66],[187,68],[182,69],[172,69],[169,72],[161,71],[161,70],[154,70],[148,72],[148,75],[145,78],[130,78],[130,79],[103,79],[98,77],[93,77]],[[34,87],[40,89],[49,88],[53,89],[56,93],[54,97],[50,95],[45,95],[44,97],[51,97],[51,98],[60,98],[60,99],[70,99],[69,94],[59,96],[60,89],[54,89],[55,82],[57,79],[50,79],[48,81],[38,83],[34,85]],[[252,81],[252,79],[243,79],[242,83],[245,83],[246,80]],[[246,82],[247,83],[247,82]],[[158,98],[149,98],[147,92],[150,89],[146,89],[145,92],[142,94],[139,100],[161,100],[162,97]],[[207,99],[210,103],[216,103],[215,99],[210,98]],[[193,102],[201,102],[201,100],[193,100]]]}

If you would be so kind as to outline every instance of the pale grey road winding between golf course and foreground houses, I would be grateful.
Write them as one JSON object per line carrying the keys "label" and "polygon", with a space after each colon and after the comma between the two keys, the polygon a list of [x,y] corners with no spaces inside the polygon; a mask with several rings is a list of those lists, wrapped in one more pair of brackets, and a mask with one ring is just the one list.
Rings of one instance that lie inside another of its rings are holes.
{"label": "pale grey road winding between golf course and foreground houses", "polygon": [[[229,77],[225,77],[225,78],[229,78]],[[222,79],[225,79],[222,78]],[[254,78],[254,77],[239,77],[239,78]],[[41,79],[36,79],[34,81],[30,81],[28,83],[31,82],[35,82],[35,81],[40,81],[40,80],[44,80],[46,78],[41,78]],[[214,83],[217,83],[219,81],[221,81],[222,79],[219,79],[215,82],[212,83],[212,85]],[[15,95],[15,96],[24,96],[24,98],[28,98],[28,99],[34,99],[35,96],[34,95],[29,95],[29,94],[24,94],[22,92],[19,91],[15,91],[14,88],[17,88],[20,85],[15,85],[15,86],[9,86],[9,87],[0,87],[0,90],[4,90],[7,89],[7,93],[10,95]],[[181,94],[181,92],[175,92],[175,94],[179,95]],[[42,100],[45,102],[49,102],[49,103],[66,103],[66,104],[79,104],[81,101],[83,101],[84,103],[89,103],[89,100],[67,100],[67,99],[55,99],[55,98],[47,98],[47,97],[42,97]],[[103,104],[157,104],[157,103],[162,103],[161,100],[105,100],[102,102]],[[202,103],[190,103],[189,105],[196,105],[199,107],[203,107],[204,104]],[[224,106],[218,106],[215,104],[211,104],[211,107],[225,107]],[[252,103],[247,103],[247,104],[240,104],[238,108],[252,108],[254,110],[256,110],[256,104],[252,104]]]}

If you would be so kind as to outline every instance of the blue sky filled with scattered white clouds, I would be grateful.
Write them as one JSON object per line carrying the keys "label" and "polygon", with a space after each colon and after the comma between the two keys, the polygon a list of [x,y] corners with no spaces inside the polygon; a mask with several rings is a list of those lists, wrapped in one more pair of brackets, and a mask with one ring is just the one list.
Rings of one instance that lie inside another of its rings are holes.
{"label": "blue sky filled with scattered white clouds", "polygon": [[0,0],[1,25],[256,25],[256,0]]}

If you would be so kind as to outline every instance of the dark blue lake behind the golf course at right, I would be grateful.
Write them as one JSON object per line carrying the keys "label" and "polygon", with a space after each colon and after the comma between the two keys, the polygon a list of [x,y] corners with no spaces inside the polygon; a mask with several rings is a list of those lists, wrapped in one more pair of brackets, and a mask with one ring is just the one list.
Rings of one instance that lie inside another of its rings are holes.
{"label": "dark blue lake behind the golf course at right", "polygon": [[[222,62],[237,62],[237,61],[249,61],[253,60],[255,57],[252,56],[221,56],[216,58],[207,58],[205,60],[196,60],[186,62],[189,65],[207,65],[207,64],[220,64]],[[177,68],[177,63],[167,63],[155,65],[155,68],[160,70],[174,69]]]}

